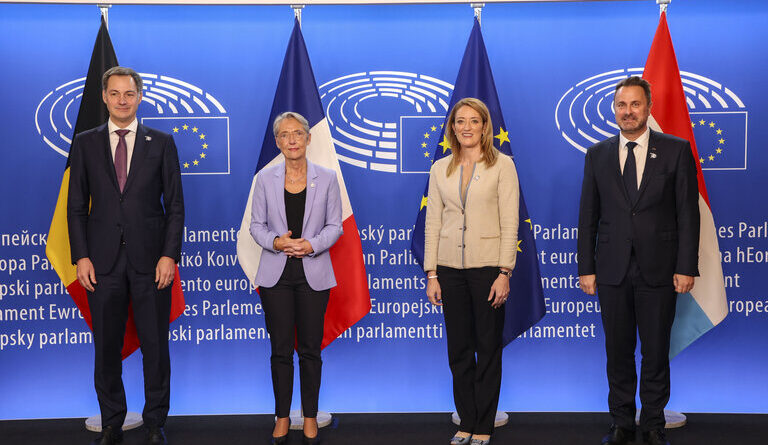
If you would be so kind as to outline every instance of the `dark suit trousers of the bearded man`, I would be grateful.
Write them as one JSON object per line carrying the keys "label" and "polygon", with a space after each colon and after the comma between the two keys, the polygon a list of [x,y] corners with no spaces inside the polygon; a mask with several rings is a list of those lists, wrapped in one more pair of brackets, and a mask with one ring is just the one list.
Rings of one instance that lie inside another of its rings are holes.
{"label": "dark suit trousers of the bearded man", "polygon": [[663,429],[669,401],[669,337],[677,294],[672,277],[667,286],[643,280],[634,254],[618,286],[598,284],[605,332],[608,408],[615,424],[635,429],[637,372],[635,347],[640,335],[640,429]]}

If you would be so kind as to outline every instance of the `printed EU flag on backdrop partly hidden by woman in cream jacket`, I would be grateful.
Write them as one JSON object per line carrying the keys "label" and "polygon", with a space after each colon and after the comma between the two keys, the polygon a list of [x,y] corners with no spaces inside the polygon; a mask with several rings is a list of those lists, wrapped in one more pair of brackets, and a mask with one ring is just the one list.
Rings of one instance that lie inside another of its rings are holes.
{"label": "printed EU flag on backdrop partly hidden by woman in cream jacket", "polygon": [[400,118],[400,171],[429,173],[435,147],[440,142],[445,116],[403,116]]}

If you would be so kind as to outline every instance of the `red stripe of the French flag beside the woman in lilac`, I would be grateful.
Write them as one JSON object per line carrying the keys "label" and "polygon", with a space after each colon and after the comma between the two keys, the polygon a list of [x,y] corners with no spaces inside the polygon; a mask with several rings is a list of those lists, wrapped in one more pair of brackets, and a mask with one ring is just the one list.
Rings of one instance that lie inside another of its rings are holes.
{"label": "red stripe of the French flag beside the woman in lilac", "polygon": [[337,285],[331,289],[325,312],[323,344],[325,348],[371,310],[368,277],[363,263],[363,246],[355,216],[342,224],[344,234],[330,249]]}

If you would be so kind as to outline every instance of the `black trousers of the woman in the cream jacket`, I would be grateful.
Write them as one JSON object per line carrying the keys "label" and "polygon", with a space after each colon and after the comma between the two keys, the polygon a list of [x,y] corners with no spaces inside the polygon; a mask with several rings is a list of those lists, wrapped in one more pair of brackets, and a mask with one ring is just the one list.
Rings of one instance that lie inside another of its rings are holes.
{"label": "black trousers of the woman in the cream jacket", "polygon": [[491,434],[501,390],[504,307],[488,301],[498,267],[437,266],[459,430]]}

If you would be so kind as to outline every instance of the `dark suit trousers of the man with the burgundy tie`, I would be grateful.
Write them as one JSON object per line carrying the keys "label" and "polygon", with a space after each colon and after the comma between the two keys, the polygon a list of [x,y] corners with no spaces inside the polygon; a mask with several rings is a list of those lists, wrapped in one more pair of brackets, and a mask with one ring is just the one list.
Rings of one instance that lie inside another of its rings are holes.
{"label": "dark suit trousers of the man with the burgundy tie", "polygon": [[120,248],[112,270],[96,275],[94,291],[88,292],[96,351],[93,380],[99,399],[102,427],[119,429],[127,412],[123,387],[123,337],[129,304],[141,343],[144,367],[144,411],[149,427],[162,427],[168,417],[171,359],[168,352],[168,319],[171,286],[158,290],[155,274],[140,273]]}

